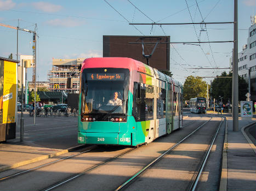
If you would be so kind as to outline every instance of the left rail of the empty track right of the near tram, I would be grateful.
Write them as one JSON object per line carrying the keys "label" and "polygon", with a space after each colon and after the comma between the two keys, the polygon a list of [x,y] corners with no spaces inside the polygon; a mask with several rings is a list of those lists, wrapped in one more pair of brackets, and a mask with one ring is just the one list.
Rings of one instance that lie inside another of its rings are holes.
{"label": "left rail of the empty track right of the near tram", "polygon": [[138,171],[134,176],[132,176],[131,178],[129,178],[129,180],[127,180],[126,182],[124,182],[121,186],[119,186],[117,189],[115,189],[115,191],[121,190],[122,188],[124,188],[125,186],[127,186],[128,183],[132,182],[136,177],[138,177],[140,174],[142,174],[145,170],[149,169],[150,166],[152,166],[153,164],[155,164],[158,160],[160,160],[163,156],[165,156],[169,151],[172,151],[175,147],[177,147],[179,144],[181,144],[181,142],[183,142],[184,140],[186,140],[187,138],[189,138],[192,134],[194,134],[195,132],[197,132],[197,130],[199,130],[201,127],[204,126],[204,124],[208,123],[210,120],[212,120],[212,117],[207,121],[204,122],[203,124],[201,124],[201,126],[197,127],[193,132],[191,132],[189,135],[185,136],[185,138],[181,139],[179,142],[177,142],[177,144],[173,145],[172,147],[170,147],[167,151],[165,151],[164,153],[162,153],[159,157],[157,157],[155,160],[153,160],[150,164],[146,165],[143,169],[141,169],[140,171]]}

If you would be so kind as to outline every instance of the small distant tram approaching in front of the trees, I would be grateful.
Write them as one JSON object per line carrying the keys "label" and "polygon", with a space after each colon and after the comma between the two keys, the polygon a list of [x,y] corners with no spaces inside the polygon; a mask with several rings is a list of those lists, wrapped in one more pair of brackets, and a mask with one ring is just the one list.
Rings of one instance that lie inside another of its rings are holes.
{"label": "small distant tram approaching in front of the trees", "polygon": [[206,114],[206,98],[191,98],[190,111],[196,114]]}

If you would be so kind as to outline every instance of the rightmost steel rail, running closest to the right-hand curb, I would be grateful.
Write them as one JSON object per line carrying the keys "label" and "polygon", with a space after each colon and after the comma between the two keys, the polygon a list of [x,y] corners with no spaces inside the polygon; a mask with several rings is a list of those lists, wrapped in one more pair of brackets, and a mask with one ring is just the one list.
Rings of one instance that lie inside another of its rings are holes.
{"label": "rightmost steel rail, running closest to the right-hand curb", "polygon": [[222,119],[222,121],[220,122],[219,127],[218,127],[218,129],[216,130],[216,133],[215,133],[215,135],[214,135],[214,137],[213,137],[213,139],[212,139],[212,141],[211,141],[211,145],[208,147],[208,150],[207,150],[207,152],[206,152],[206,155],[204,156],[204,158],[203,158],[203,160],[202,160],[202,163],[201,163],[201,165],[200,165],[200,168],[199,168],[198,171],[197,171],[196,178],[195,178],[195,180],[193,181],[193,183],[191,184],[191,187],[190,187],[190,189],[189,189],[190,191],[195,191],[195,190],[196,190],[197,184],[198,184],[198,182],[199,182],[199,180],[200,180],[200,177],[201,177],[201,175],[202,175],[202,171],[203,171],[203,169],[204,169],[204,166],[206,165],[207,159],[208,159],[209,154],[210,154],[210,152],[211,152],[211,150],[212,150],[214,141],[215,141],[215,139],[216,139],[216,137],[217,137],[217,135],[218,135],[218,133],[219,133],[220,126],[221,126],[221,124],[223,123],[223,117],[221,117],[221,119]]}

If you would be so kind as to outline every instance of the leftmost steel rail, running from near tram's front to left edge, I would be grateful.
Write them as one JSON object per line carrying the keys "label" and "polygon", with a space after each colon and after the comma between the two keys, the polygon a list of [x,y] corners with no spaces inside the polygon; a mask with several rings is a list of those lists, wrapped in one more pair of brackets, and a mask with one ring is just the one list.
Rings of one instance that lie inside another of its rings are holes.
{"label": "leftmost steel rail, running from near tram's front to left edge", "polygon": [[15,173],[15,174],[13,174],[13,175],[9,175],[9,176],[2,177],[2,178],[0,178],[0,182],[5,181],[5,180],[8,180],[8,179],[10,179],[10,178],[14,178],[14,177],[19,176],[19,175],[26,174],[26,173],[28,173],[28,172],[31,172],[31,171],[34,171],[34,170],[37,170],[37,169],[41,169],[41,168],[43,168],[43,167],[45,167],[45,166],[49,166],[49,165],[58,163],[58,162],[60,162],[60,161],[62,161],[62,160],[66,160],[66,159],[69,159],[69,158],[72,158],[72,157],[76,157],[76,156],[78,156],[78,155],[80,155],[80,154],[89,152],[89,151],[91,151],[91,150],[93,150],[93,148],[92,148],[92,149],[89,149],[89,150],[86,150],[86,151],[83,151],[83,152],[80,152],[80,153],[77,153],[77,154],[73,154],[72,156],[69,156],[69,157],[64,157],[64,158],[61,158],[61,159],[58,159],[58,160],[54,160],[53,162],[50,162],[50,163],[45,163],[45,164],[39,165],[39,166],[37,166],[37,167],[31,168],[31,169],[28,169],[28,170],[24,170],[24,171],[21,171],[21,172],[18,172],[18,173]]}

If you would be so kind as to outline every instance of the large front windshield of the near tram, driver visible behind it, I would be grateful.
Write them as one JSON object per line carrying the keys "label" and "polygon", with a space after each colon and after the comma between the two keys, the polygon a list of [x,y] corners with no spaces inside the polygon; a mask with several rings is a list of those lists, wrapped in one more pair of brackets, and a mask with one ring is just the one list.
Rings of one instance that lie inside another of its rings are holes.
{"label": "large front windshield of the near tram, driver visible behind it", "polygon": [[81,83],[81,115],[127,114],[128,69],[84,69]]}

